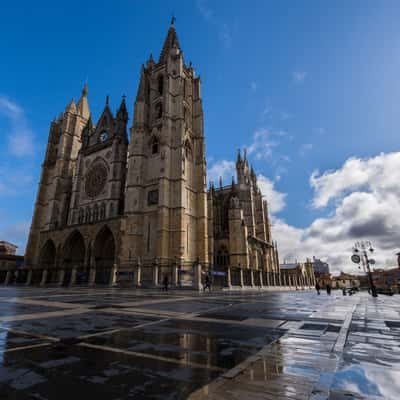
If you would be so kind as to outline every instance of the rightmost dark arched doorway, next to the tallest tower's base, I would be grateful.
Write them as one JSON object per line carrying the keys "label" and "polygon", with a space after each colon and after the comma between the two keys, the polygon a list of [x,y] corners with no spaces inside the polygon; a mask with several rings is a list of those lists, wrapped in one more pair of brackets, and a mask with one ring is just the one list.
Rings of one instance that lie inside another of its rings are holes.
{"label": "rightmost dark arched doorway, next to the tallest tower's base", "polygon": [[96,283],[108,284],[111,269],[115,262],[115,241],[111,230],[103,228],[94,242],[94,258],[96,265]]}

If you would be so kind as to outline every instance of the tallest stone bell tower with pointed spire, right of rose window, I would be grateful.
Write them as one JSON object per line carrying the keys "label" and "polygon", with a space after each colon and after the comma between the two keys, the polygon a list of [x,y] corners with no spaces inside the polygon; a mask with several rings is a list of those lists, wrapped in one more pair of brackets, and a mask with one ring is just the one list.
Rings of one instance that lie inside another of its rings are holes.
{"label": "tallest stone bell tower with pointed spire, right of rose window", "polygon": [[173,21],[158,62],[142,66],[126,184],[125,262],[208,262],[200,78],[184,63]]}

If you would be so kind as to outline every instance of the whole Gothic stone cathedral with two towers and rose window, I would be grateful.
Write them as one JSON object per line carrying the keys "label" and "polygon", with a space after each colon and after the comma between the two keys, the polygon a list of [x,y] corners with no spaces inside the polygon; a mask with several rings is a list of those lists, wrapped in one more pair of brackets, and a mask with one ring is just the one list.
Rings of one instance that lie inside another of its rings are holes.
{"label": "whole Gothic stone cathedral with two towers and rose window", "polygon": [[[51,123],[19,281],[200,288],[283,285],[267,202],[245,154],[206,185],[201,82],[171,24],[125,98],[92,120],[88,88]],[[128,140],[129,137],[129,140]]]}

